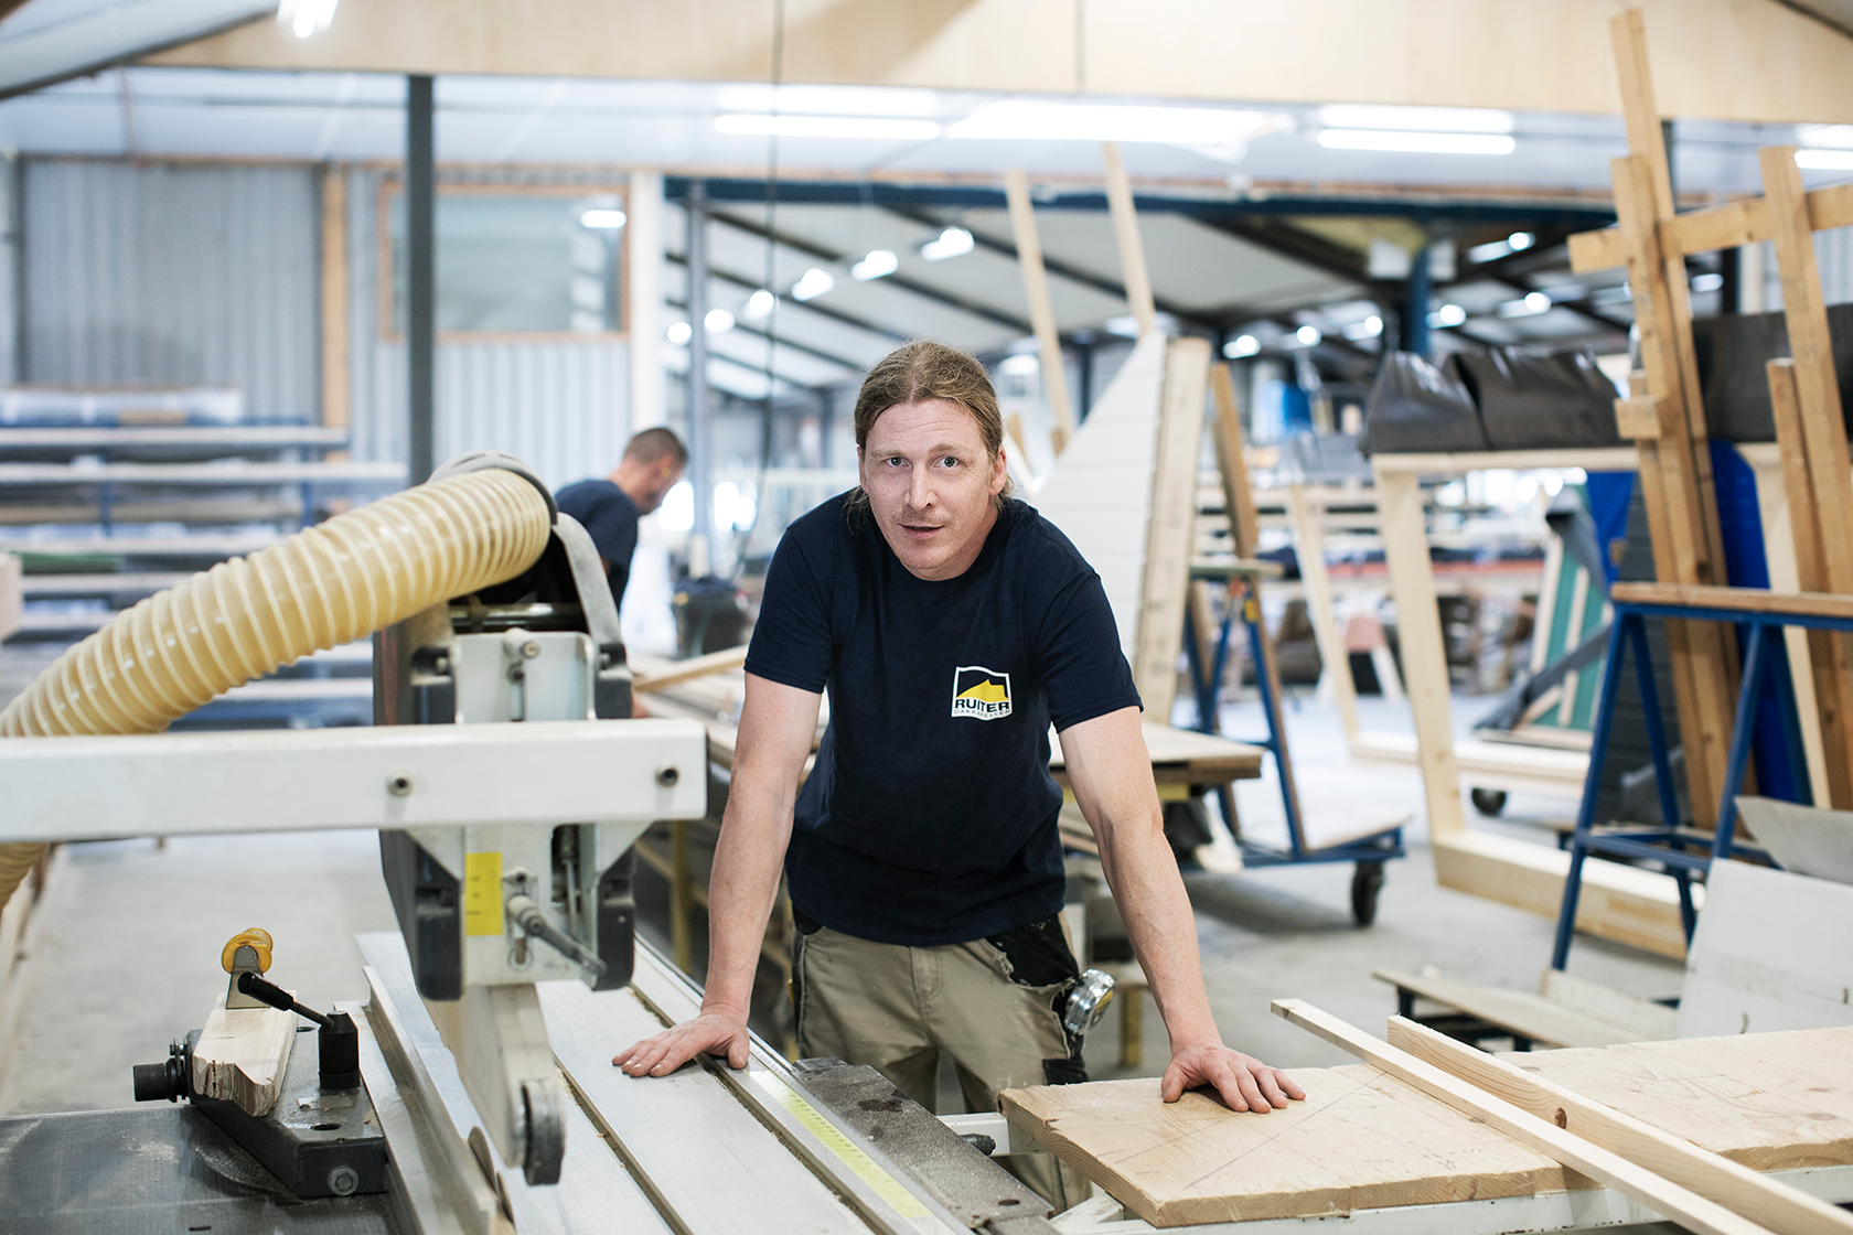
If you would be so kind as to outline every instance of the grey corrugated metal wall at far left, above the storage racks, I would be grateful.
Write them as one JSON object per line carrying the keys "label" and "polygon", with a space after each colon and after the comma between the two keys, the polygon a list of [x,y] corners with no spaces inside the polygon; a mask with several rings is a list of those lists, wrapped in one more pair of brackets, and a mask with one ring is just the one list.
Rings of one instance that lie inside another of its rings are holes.
{"label": "grey corrugated metal wall at far left, above the storage racks", "polygon": [[306,167],[24,159],[19,378],[211,381],[317,420],[317,193]]}

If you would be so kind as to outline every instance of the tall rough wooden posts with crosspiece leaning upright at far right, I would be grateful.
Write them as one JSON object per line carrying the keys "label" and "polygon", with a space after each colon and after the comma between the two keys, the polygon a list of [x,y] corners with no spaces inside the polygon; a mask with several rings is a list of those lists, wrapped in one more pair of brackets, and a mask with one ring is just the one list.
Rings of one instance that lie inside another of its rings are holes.
{"label": "tall rough wooden posts with crosspiece leaning upright at far right", "polygon": [[[1616,17],[1610,33],[1631,146],[1625,159],[1612,163],[1620,224],[1571,237],[1569,257],[1579,274],[1612,267],[1627,267],[1629,272],[1644,372],[1631,383],[1634,398],[1618,405],[1618,424],[1640,450],[1642,496],[1660,581],[1727,581],[1684,259],[1770,241],[1781,268],[1794,352],[1794,361],[1770,367],[1794,539],[1794,585],[1801,591],[1853,591],[1846,424],[1810,235],[1853,224],[1853,185],[1805,193],[1794,146],[1771,146],[1760,156],[1762,198],[1675,215],[1640,9]],[[1768,468],[1764,476],[1775,480]],[[1796,518],[1796,511],[1803,517]],[[1701,626],[1668,622],[1686,776],[1701,826],[1714,822],[1723,783],[1723,735],[1729,733],[1736,687],[1736,655],[1725,639],[1721,630],[1707,635]],[[1792,654],[1801,650],[1797,642],[1807,644],[1807,668],[1797,663],[1794,676],[1797,683],[1809,680],[1818,709],[1820,780],[1825,781],[1827,800],[1844,809],[1853,805],[1853,730],[1847,726],[1853,655],[1846,637],[1829,631],[1792,641]]]}

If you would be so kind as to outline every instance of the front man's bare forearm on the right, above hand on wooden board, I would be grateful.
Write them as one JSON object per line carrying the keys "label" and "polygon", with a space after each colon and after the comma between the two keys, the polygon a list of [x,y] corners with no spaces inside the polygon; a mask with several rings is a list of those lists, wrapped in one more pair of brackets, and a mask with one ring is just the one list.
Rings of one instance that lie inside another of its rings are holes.
{"label": "front man's bare forearm on the right, above hand on wooden board", "polygon": [[1221,1042],[1203,987],[1197,918],[1177,874],[1177,859],[1164,841],[1164,826],[1147,818],[1143,809],[1128,809],[1134,815],[1130,822],[1103,820],[1101,865],[1171,1035],[1171,1050]]}

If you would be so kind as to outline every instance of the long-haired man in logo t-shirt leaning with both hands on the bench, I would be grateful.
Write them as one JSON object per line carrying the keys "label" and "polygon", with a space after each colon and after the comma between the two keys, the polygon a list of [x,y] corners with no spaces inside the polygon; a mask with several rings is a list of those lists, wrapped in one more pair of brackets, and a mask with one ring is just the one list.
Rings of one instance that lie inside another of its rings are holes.
{"label": "long-haired man in logo t-shirt leaning with both hands on the bench", "polygon": [[[928,1111],[941,1052],[978,1111],[1001,1089],[1088,1079],[1062,1026],[1080,974],[1060,918],[1053,722],[1171,1035],[1164,1100],[1199,1085],[1234,1111],[1303,1098],[1216,1029],[1106,593],[1008,496],[990,376],[912,343],[869,372],[854,428],[862,485],[793,522],[765,580],[700,1015],[611,1063],[632,1076],[700,1052],[747,1065],[782,865],[802,1057],[871,1065]],[[825,691],[830,726],[800,792]],[[1058,1207],[1086,1198],[1053,1161],[1019,1174]]]}

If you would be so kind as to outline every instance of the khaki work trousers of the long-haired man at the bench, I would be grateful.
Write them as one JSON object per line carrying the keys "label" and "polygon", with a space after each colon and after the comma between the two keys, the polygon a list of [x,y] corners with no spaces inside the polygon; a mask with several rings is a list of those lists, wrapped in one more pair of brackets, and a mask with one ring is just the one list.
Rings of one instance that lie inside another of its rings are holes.
{"label": "khaki work trousers of the long-haired man at the bench", "polygon": [[[1054,1011],[1073,981],[1025,985],[990,939],[908,948],[823,926],[799,933],[791,976],[800,1057],[869,1065],[936,1115],[941,1054],[967,1111],[995,1111],[1004,1089],[1088,1079],[1080,1042]],[[1091,1192],[1051,1154],[997,1161],[1056,1213]]]}

